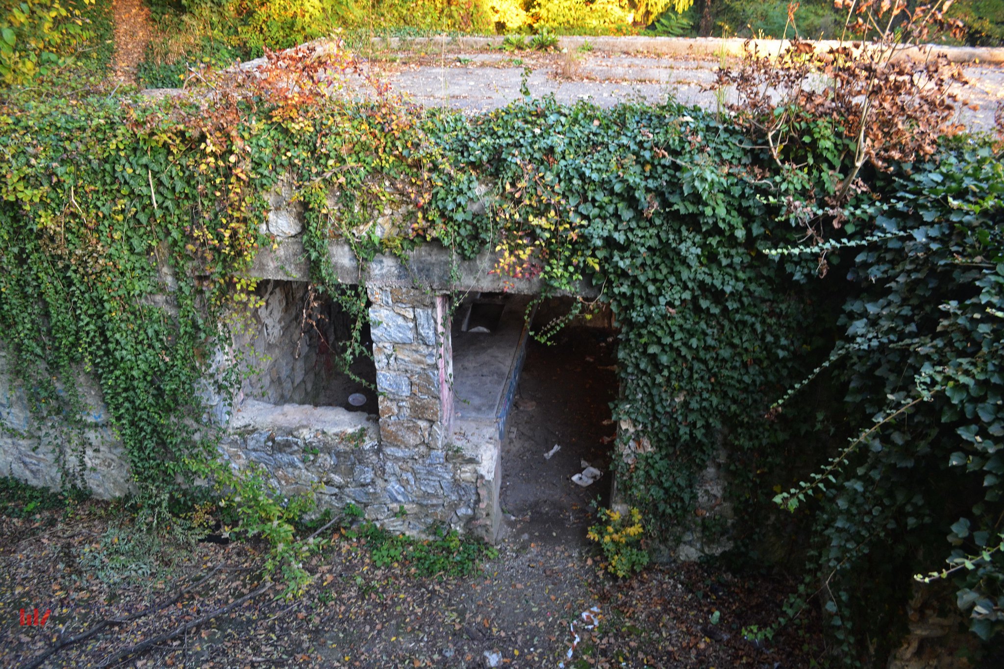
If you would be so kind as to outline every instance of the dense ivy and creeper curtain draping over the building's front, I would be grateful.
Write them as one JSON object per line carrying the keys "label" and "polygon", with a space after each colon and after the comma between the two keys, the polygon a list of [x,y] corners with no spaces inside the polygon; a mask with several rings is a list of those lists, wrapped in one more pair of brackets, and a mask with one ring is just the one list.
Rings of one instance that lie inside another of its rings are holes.
{"label": "dense ivy and creeper curtain draping over the building's front", "polygon": [[[306,49],[207,72],[211,96],[4,108],[0,326],[14,370],[36,415],[70,427],[74,380],[93,375],[150,506],[191,506],[207,491],[196,480],[214,482],[238,532],[269,540],[287,592],[302,590],[305,507],[221,467],[202,406],[234,388],[207,372],[223,315],[251,299],[243,270],[271,242],[259,224],[282,177],[313,282],[358,319],[332,239],[361,259],[491,247],[513,282],[598,287],[621,328],[617,466],[647,530],[669,540],[697,518],[714,531],[695,488],[724,454],[741,526],[775,491],[799,512],[809,565],[790,611],[814,595],[847,664],[888,656],[899,611],[886,604],[946,556],[989,638],[1004,625],[1001,144],[952,124],[947,63],[895,57],[932,26],[958,27],[944,3],[848,9],[871,50],[796,42],[770,64],[750,58],[723,74],[740,93],[732,113],[527,99],[467,118],[384,94],[349,102],[328,84],[354,60]],[[388,204],[407,219],[376,237],[367,213]],[[170,309],[143,299],[172,282]],[[806,397],[813,383],[829,390]],[[71,444],[67,483],[93,445]],[[792,480],[796,459],[824,464]],[[422,571],[451,573],[480,550],[449,533],[417,545],[353,532],[374,561]],[[864,629],[889,633],[865,643]]]}

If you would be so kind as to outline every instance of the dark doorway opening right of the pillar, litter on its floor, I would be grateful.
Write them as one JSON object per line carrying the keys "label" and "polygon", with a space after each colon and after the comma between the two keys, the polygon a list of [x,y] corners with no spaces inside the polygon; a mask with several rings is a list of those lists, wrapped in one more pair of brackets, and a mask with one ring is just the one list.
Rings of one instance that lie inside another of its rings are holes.
{"label": "dark doorway opening right of the pillar, litter on its floor", "polygon": [[[534,318],[534,331],[555,313],[567,314],[570,306],[570,301],[548,302]],[[594,522],[590,503],[609,503],[616,331],[609,327],[609,318],[596,323],[606,327],[585,325],[577,317],[552,337],[553,344],[533,338],[527,344],[502,444],[501,507],[512,539],[584,544]],[[560,449],[546,457],[555,445]],[[599,469],[602,476],[583,487],[572,476],[586,466]]]}

